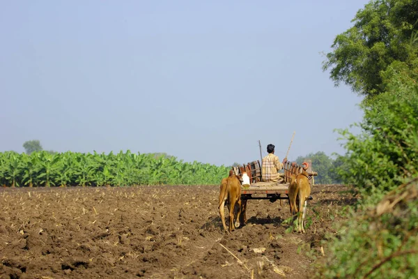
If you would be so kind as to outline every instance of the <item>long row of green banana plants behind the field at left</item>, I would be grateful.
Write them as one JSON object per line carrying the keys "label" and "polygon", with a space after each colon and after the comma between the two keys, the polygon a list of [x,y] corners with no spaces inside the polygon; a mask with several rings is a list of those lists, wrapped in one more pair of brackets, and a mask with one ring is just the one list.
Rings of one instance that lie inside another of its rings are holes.
{"label": "long row of green banana plants behind the field at left", "polygon": [[229,167],[126,153],[0,153],[0,185],[10,187],[215,185]]}

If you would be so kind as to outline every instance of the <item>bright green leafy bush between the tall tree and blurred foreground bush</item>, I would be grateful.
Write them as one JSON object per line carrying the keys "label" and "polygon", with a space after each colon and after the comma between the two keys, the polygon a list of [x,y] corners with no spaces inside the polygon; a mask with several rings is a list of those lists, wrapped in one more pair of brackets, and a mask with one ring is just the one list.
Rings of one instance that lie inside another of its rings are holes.
{"label": "bright green leafy bush between the tall tree and blurred foreground bush", "polygon": [[364,106],[361,135],[340,130],[347,152],[339,174],[367,195],[392,190],[418,171],[418,87],[405,90]]}

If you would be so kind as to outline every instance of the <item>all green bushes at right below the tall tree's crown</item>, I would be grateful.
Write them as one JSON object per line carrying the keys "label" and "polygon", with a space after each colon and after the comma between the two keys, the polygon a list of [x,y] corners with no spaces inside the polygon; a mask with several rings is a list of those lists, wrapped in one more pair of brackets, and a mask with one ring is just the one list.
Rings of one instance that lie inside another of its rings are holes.
{"label": "all green bushes at right below the tall tree's crown", "polygon": [[316,276],[417,278],[418,87],[398,85],[362,107],[362,133],[340,130],[346,155],[336,159],[361,199],[323,243]]}

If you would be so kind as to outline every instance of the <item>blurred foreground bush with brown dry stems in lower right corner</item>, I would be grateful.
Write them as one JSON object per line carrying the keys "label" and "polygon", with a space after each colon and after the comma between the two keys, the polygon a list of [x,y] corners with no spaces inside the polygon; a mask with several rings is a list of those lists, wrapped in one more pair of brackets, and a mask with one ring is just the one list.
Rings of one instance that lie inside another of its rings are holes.
{"label": "blurred foreground bush with brown dry stems in lower right corner", "polygon": [[418,278],[418,179],[361,209],[330,238],[316,276]]}

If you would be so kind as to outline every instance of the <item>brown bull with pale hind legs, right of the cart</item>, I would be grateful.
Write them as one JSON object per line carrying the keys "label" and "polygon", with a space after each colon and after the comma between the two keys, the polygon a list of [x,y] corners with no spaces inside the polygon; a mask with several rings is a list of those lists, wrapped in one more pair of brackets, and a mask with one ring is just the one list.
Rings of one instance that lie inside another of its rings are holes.
{"label": "brown bull with pale hind legs, right of the cart", "polygon": [[311,195],[311,185],[309,184],[308,174],[306,167],[302,169],[302,172],[296,171],[294,167],[292,169],[293,175],[291,176],[291,183],[289,185],[289,204],[291,207],[291,214],[297,216],[295,231],[304,233],[304,218],[307,211],[307,199]]}

